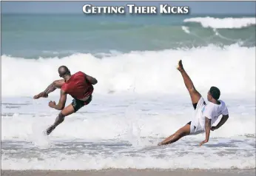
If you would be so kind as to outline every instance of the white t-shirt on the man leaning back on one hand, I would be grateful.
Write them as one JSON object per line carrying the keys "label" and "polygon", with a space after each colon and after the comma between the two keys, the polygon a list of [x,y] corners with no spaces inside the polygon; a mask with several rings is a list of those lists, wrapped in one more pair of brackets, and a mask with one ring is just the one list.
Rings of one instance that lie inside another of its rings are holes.
{"label": "white t-shirt on the man leaning back on one hand", "polygon": [[213,104],[212,102],[209,102],[206,106],[203,106],[201,110],[201,126],[205,126],[205,118],[211,119],[211,126],[216,121],[219,120],[219,118],[222,118],[220,115],[228,115],[229,110],[226,107],[226,104],[224,101],[220,101],[220,104]]}

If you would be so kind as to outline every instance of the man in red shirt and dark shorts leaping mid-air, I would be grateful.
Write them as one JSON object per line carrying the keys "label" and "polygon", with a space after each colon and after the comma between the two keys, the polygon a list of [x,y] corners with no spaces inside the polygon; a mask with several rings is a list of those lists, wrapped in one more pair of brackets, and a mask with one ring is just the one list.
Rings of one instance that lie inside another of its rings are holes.
{"label": "man in red shirt and dark shorts leaping mid-air", "polygon": [[[67,115],[71,115],[74,112],[81,109],[84,105],[90,104],[92,101],[93,86],[98,83],[98,81],[90,75],[86,75],[84,72],[76,72],[71,75],[70,70],[66,66],[61,66],[58,68],[58,74],[61,80],[53,81],[44,92],[39,93],[34,96],[34,99],[41,97],[47,98],[50,92],[55,89],[61,89],[61,98],[58,104],[55,101],[50,101],[49,106],[54,109],[61,110],[52,126],[50,126],[46,132],[50,135],[60,123],[64,121]],[[72,104],[65,107],[67,94],[71,95],[74,99]]]}

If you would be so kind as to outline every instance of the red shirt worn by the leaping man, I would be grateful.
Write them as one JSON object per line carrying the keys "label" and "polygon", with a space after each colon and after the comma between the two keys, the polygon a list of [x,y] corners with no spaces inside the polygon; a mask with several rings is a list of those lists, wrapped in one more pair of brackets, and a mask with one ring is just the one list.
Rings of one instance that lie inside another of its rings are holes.
{"label": "red shirt worn by the leaping man", "polygon": [[71,75],[71,78],[63,84],[63,89],[67,94],[70,94],[73,98],[83,99],[89,95],[92,95],[93,86],[85,79],[86,74],[84,72],[76,72]]}

